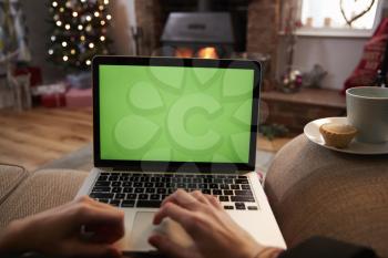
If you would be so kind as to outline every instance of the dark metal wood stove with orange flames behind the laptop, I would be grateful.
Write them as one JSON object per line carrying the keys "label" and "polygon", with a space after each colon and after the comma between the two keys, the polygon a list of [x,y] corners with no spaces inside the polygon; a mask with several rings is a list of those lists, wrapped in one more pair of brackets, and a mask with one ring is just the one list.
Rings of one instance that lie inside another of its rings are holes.
{"label": "dark metal wood stove with orange flames behind the laptop", "polygon": [[235,38],[229,12],[212,12],[206,0],[196,12],[172,12],[161,38],[162,55],[178,58],[231,58]]}

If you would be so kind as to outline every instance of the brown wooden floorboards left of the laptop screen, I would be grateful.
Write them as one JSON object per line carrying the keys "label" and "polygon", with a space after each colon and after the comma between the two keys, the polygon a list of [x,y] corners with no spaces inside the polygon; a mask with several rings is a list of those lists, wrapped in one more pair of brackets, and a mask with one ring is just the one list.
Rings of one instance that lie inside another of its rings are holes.
{"label": "brown wooden floorboards left of the laptop screen", "polygon": [[34,171],[91,141],[90,107],[0,110],[0,163]]}

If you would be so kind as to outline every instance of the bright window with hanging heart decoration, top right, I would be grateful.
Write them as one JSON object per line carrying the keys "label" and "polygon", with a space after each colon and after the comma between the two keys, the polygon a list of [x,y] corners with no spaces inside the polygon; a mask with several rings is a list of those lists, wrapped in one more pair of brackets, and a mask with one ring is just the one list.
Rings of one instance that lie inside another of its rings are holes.
{"label": "bright window with hanging heart decoration, top right", "polygon": [[[384,2],[384,0],[299,1],[302,28],[297,30],[298,34],[343,37],[370,35],[380,19]],[[353,20],[359,14],[363,16]]]}

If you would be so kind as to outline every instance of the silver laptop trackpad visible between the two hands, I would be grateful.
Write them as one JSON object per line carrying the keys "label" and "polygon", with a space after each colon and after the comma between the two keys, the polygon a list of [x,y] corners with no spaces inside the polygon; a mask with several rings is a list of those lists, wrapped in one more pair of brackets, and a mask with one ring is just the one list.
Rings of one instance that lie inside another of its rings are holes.
{"label": "silver laptop trackpad visible between the two hands", "polygon": [[131,241],[134,250],[146,251],[155,248],[149,244],[149,238],[153,235],[155,226],[152,224],[155,213],[139,211],[135,215],[131,231]]}

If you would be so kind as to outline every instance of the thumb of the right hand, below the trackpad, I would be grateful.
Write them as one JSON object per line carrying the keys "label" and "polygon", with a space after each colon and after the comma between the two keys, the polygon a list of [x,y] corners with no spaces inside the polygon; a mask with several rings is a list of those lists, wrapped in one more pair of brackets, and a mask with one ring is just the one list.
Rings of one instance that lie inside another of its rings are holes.
{"label": "thumb of the right hand, below the trackpad", "polygon": [[173,242],[170,238],[156,234],[149,238],[149,242],[160,252],[173,258],[196,258],[200,257],[192,248],[182,247]]}

